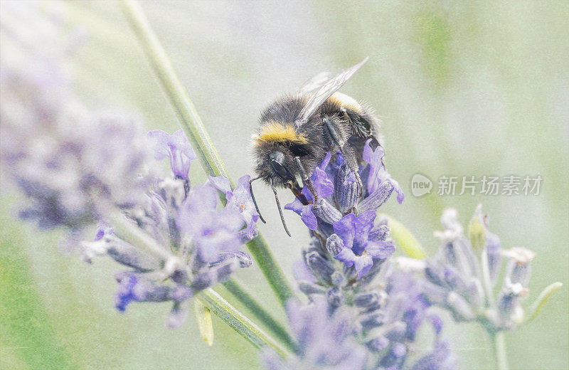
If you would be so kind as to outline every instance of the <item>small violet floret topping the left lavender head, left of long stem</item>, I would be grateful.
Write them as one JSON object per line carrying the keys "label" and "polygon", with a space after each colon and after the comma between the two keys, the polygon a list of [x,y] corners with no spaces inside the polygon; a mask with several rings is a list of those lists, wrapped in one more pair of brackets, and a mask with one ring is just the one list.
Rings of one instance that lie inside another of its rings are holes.
{"label": "small violet floret topping the left lavender head, left of long stem", "polygon": [[191,161],[197,156],[184,131],[179,129],[174,134],[169,134],[161,129],[153,129],[148,137],[153,143],[154,159],[160,161],[169,158],[174,176],[187,179]]}

